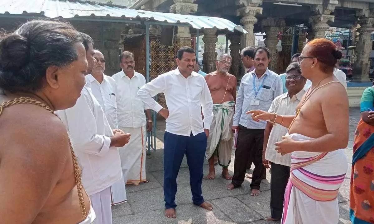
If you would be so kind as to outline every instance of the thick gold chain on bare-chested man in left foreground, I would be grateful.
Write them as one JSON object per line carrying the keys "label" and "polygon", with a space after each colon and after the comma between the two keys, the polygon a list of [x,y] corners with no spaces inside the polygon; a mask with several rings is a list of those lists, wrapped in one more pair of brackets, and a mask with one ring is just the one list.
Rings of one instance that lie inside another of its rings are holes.
{"label": "thick gold chain on bare-chested man in left foreground", "polygon": [[[57,116],[52,109],[50,109],[49,106],[47,106],[45,103],[42,103],[36,99],[30,98],[30,97],[20,97],[16,98],[13,100],[9,100],[7,102],[4,102],[0,105],[0,116],[1,113],[3,112],[3,109],[12,105],[16,104],[32,104],[32,105],[37,105],[40,106],[53,115]],[[58,117],[58,116],[57,116]],[[77,157],[75,156],[73,146],[71,145],[70,137],[69,139],[69,146],[70,146],[70,151],[71,151],[71,157],[73,158],[73,167],[74,167],[74,177],[75,177],[75,183],[77,185],[77,190],[78,190],[78,197],[79,197],[79,204],[80,204],[80,210],[82,211],[82,216],[85,218],[87,216],[87,211],[86,211],[86,206],[85,206],[85,200],[83,197],[83,185],[82,185],[82,180],[81,180],[81,172],[80,172],[80,167],[78,164]]]}

